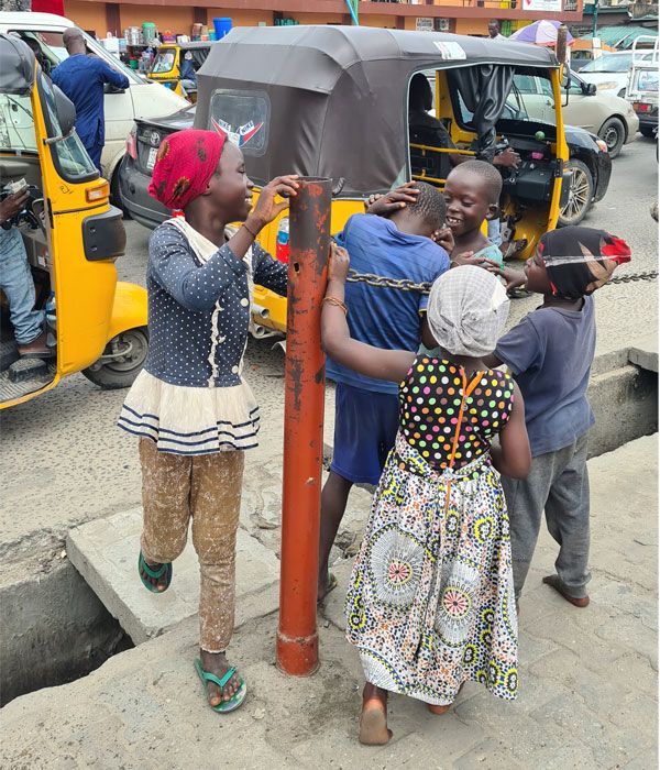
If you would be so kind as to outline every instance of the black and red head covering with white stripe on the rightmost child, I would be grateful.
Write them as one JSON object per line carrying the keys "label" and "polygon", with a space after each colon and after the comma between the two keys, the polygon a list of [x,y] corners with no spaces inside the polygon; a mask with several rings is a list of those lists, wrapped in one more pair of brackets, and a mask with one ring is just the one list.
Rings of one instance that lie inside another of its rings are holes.
{"label": "black and red head covering with white stripe on the rightmost child", "polygon": [[616,267],[630,262],[630,246],[605,230],[569,227],[541,235],[538,251],[543,257],[552,294],[580,299],[604,286]]}

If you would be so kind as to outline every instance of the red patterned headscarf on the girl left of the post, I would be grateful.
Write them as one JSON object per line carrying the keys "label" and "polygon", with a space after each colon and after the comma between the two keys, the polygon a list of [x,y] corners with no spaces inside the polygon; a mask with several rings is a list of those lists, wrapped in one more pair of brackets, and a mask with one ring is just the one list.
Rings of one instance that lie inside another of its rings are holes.
{"label": "red patterned headscarf on the girl left of the post", "polygon": [[207,188],[218,168],[227,136],[186,129],[162,142],[148,186],[152,198],[168,209],[184,209]]}

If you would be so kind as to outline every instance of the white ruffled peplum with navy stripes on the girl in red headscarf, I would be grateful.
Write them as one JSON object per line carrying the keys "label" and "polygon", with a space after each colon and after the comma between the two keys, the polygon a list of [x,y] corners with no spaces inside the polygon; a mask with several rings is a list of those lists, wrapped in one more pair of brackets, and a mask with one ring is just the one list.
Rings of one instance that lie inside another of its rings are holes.
{"label": "white ruffled peplum with navy stripes on the girl in red headscarf", "polygon": [[257,446],[258,406],[248,383],[232,387],[170,385],[144,370],[118,425],[152,439],[162,452],[212,454]]}

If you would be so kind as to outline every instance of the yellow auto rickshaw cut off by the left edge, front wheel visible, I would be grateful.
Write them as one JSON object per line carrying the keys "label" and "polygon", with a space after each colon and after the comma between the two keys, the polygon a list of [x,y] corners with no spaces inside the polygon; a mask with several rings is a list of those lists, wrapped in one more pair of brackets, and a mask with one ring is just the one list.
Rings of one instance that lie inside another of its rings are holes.
{"label": "yellow auto rickshaw cut off by the left edge, front wheel visible", "polygon": [[118,283],[122,215],[109,204],[74,130],[72,102],[31,48],[0,34],[0,188],[29,186],[23,211],[3,223],[25,248],[36,307],[47,306],[50,358],[18,354],[2,298],[0,409],[26,402],[82,372],[103,388],[129,386],[147,349],[146,292]]}

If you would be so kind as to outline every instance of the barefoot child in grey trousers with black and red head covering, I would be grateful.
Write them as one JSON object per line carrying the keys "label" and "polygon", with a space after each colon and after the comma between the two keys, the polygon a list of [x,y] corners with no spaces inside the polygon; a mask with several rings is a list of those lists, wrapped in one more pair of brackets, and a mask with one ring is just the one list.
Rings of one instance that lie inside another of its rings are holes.
{"label": "barefoot child in grey trousers with black and red head covering", "polygon": [[541,518],[559,544],[557,574],[543,578],[568,602],[586,607],[590,546],[587,433],[594,415],[586,388],[596,344],[595,289],[630,260],[628,244],[604,230],[569,227],[539,241],[517,271],[492,267],[525,282],[543,304],[497,343],[488,364],[506,364],[525,397],[531,471],[527,479],[503,477],[512,519],[516,600],[536,548]]}

